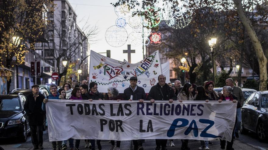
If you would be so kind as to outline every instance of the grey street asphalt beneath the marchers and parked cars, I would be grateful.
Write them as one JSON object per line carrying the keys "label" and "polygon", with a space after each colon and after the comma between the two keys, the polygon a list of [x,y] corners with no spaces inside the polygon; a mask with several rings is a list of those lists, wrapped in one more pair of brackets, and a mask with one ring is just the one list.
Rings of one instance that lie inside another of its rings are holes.
{"label": "grey street asphalt beneath the marchers and parked cars", "polygon": [[[266,150],[268,149],[268,141],[265,143],[259,142],[256,135],[254,133],[249,132],[247,135],[241,135],[236,140],[234,140],[233,148],[236,150]],[[48,130],[44,131],[44,149],[52,149],[51,148],[51,142],[48,140]],[[210,149],[219,150],[220,149],[220,140],[214,140],[212,141],[213,145],[210,145]],[[67,142],[68,144],[68,142]],[[116,144],[116,142],[115,142]],[[181,140],[174,140],[175,147],[167,146],[168,150],[179,150],[181,148]],[[102,149],[103,150],[110,150],[111,143],[108,143],[108,140],[102,140],[101,141]],[[169,145],[169,140],[168,140]],[[31,142],[31,137],[28,136],[27,141],[25,143],[18,142],[17,139],[1,139],[0,140],[0,146],[4,148],[5,150],[30,150],[33,149],[33,145]],[[89,148],[84,148],[85,141],[81,140],[79,149],[81,150],[88,150]],[[200,142],[198,140],[190,140],[188,146],[193,149],[198,149],[200,146]],[[155,140],[145,140],[143,143],[144,150],[154,150]],[[122,141],[121,142],[121,150],[131,150],[133,148],[131,141]],[[68,148],[69,149],[69,148]],[[96,148],[97,150],[97,148]]]}

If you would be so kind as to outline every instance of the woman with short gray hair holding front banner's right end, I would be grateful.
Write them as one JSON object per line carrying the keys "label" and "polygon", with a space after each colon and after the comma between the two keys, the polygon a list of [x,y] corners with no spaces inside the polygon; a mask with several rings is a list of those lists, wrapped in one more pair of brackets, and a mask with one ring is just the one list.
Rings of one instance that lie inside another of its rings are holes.
{"label": "woman with short gray hair holding front banner's right end", "polygon": [[[219,103],[222,102],[222,101],[233,101],[234,103],[237,102],[237,97],[232,94],[232,88],[230,86],[224,86],[222,89],[223,89],[223,93],[218,99]],[[236,120],[237,119],[235,119],[235,124],[236,124]],[[233,137],[234,137],[234,130],[233,130],[233,133],[232,133],[231,142],[227,141],[226,149],[234,149],[233,148],[233,143],[234,143],[234,138]],[[226,143],[225,140],[220,139],[220,148],[221,149],[225,149],[225,143]]]}

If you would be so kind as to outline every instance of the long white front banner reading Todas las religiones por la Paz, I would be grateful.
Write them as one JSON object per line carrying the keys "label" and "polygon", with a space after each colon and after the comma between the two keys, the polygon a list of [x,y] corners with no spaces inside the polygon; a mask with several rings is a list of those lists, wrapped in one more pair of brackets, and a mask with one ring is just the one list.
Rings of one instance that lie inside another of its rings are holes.
{"label": "long white front banner reading Todas las religiones por la Paz", "polygon": [[74,139],[195,139],[231,141],[230,101],[130,102],[53,100],[46,103],[49,141]]}

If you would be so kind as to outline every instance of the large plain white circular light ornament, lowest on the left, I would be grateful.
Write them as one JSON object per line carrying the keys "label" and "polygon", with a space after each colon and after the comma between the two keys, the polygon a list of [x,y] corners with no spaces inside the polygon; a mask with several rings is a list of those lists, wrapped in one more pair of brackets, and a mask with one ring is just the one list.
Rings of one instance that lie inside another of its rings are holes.
{"label": "large plain white circular light ornament, lowest on the left", "polygon": [[128,32],[125,28],[118,28],[116,25],[109,27],[105,32],[106,42],[113,47],[120,47],[126,43]]}

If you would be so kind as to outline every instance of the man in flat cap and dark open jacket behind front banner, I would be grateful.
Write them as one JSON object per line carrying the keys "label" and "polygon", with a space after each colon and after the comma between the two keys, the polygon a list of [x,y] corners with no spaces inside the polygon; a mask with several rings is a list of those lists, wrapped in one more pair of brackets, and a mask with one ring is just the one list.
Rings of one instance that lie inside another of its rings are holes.
{"label": "man in flat cap and dark open jacket behind front banner", "polygon": [[[133,76],[129,78],[130,85],[124,90],[124,100],[143,102],[146,100],[146,94],[142,87],[137,85],[138,78]],[[134,148],[132,150],[143,150],[143,140],[133,140]]]}

